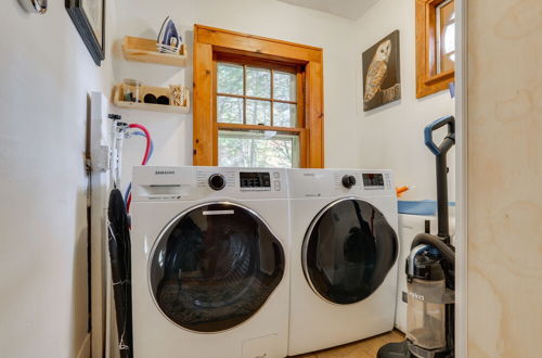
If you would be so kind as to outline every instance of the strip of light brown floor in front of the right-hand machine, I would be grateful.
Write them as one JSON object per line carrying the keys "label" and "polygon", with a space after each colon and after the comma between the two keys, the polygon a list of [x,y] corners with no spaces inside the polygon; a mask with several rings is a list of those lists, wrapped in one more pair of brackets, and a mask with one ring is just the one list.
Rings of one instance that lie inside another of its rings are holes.
{"label": "strip of light brown floor in front of the right-hand machine", "polygon": [[295,358],[375,358],[378,348],[386,343],[404,341],[404,335],[393,330],[372,338],[346,344],[340,347],[295,356]]}

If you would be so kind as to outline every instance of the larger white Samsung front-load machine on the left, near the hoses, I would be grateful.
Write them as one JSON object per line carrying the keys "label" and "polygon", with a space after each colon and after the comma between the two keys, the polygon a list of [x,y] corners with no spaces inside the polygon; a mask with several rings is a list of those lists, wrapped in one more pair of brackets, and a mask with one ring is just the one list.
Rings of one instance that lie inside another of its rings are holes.
{"label": "larger white Samsung front-load machine on the left, near the hoses", "polygon": [[136,358],[287,355],[287,196],[282,169],[133,169]]}

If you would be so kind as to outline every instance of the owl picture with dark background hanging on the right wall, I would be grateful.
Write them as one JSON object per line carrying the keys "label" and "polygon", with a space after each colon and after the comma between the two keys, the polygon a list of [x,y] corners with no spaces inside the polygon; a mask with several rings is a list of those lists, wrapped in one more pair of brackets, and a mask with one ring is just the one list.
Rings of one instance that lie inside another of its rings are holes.
{"label": "owl picture with dark background hanging on the right wall", "polygon": [[362,55],[363,111],[401,99],[399,30],[375,43]]}

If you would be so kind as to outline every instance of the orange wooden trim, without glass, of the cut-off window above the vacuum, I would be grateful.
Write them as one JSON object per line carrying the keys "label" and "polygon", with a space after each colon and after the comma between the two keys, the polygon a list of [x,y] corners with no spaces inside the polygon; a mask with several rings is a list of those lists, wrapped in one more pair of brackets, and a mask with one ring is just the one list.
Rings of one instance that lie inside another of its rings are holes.
{"label": "orange wooden trim, without glass, of the cut-off window above the vacuum", "polygon": [[436,8],[446,0],[416,1],[416,98],[447,90],[455,69],[437,73]]}

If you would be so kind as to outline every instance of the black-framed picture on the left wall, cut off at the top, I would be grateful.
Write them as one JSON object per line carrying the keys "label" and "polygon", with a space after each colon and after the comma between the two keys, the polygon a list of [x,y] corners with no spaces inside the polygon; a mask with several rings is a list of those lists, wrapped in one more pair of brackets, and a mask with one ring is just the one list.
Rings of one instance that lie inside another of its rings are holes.
{"label": "black-framed picture on the left wall, cut off at the top", "polygon": [[98,66],[105,59],[105,0],[66,0],[66,11]]}

